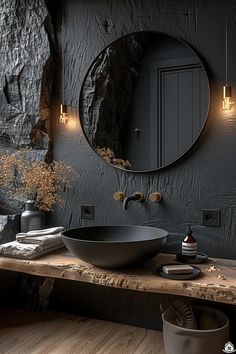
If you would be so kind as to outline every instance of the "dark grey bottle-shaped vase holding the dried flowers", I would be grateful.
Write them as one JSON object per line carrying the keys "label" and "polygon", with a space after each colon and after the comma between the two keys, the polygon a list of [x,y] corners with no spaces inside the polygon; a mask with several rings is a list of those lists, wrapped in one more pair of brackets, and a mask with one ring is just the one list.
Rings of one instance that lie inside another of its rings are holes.
{"label": "dark grey bottle-shaped vase holding the dried flowers", "polygon": [[45,213],[35,206],[34,200],[27,200],[21,213],[21,232],[45,228]]}

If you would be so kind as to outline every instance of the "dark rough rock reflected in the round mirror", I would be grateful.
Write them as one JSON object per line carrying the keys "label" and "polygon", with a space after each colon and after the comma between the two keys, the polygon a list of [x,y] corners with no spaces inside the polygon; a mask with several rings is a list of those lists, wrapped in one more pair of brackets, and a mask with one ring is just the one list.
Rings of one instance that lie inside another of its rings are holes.
{"label": "dark rough rock reflected in the round mirror", "polygon": [[145,35],[112,43],[95,59],[83,83],[80,117],[90,144],[123,156],[120,143],[139,77]]}

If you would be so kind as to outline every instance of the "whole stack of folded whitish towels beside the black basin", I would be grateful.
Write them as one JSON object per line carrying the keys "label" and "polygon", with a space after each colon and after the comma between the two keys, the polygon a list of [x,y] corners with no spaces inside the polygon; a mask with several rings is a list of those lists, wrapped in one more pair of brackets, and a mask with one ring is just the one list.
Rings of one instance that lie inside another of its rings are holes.
{"label": "whole stack of folded whitish towels beside the black basin", "polygon": [[34,259],[64,247],[62,226],[16,235],[16,241],[0,245],[0,256]]}

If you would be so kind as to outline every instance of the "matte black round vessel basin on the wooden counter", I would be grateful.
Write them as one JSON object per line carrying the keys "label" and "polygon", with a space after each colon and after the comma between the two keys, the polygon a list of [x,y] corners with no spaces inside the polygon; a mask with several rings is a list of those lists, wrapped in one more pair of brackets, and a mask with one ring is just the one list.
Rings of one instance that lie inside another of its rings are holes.
{"label": "matte black round vessel basin on the wooden counter", "polygon": [[156,256],[168,232],[150,226],[91,226],[62,232],[76,257],[100,268],[128,268]]}

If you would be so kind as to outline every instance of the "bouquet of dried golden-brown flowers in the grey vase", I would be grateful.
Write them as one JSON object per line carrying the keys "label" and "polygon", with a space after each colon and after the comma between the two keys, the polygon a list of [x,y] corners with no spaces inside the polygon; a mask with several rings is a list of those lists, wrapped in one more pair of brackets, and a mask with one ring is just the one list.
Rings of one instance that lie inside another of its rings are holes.
{"label": "bouquet of dried golden-brown flowers in the grey vase", "polygon": [[33,160],[30,149],[0,154],[0,189],[12,199],[34,200],[39,210],[62,203],[60,193],[78,174],[61,161]]}

